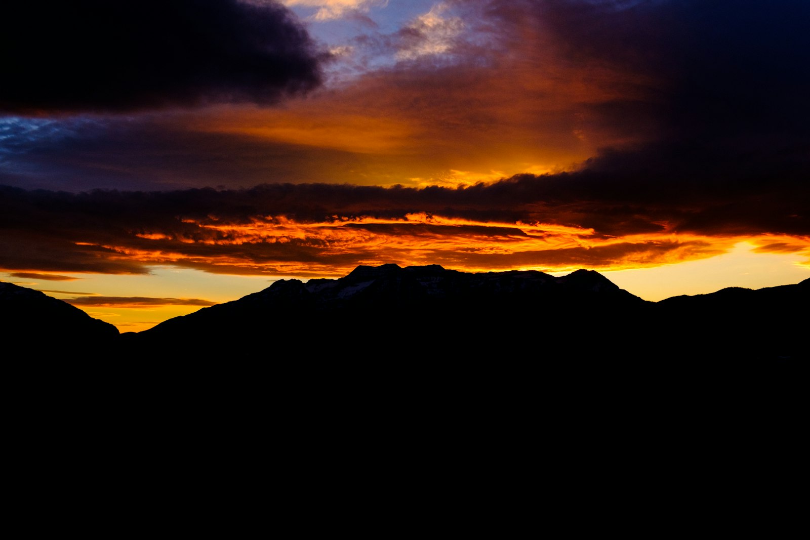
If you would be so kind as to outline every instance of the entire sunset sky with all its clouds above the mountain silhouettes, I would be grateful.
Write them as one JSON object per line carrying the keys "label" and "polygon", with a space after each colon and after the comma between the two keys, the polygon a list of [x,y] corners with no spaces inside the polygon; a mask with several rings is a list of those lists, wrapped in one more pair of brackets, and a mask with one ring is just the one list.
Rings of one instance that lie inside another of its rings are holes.
{"label": "entire sunset sky with all its clouds above the mountain silhouettes", "polygon": [[810,277],[808,2],[0,17],[0,280],[122,331],[391,262],[646,300]]}

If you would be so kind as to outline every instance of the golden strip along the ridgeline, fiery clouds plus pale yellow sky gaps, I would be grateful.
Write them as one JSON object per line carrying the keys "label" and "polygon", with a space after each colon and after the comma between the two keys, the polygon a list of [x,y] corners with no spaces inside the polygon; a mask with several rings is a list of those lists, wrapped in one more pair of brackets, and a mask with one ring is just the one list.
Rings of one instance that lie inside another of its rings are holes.
{"label": "golden strip along the ridgeline, fiery clouds plus pale yellow sky gaps", "polygon": [[[604,238],[590,229],[548,224],[479,223],[425,214],[397,219],[344,219],[330,223],[295,223],[268,219],[245,225],[197,223],[212,233],[200,244],[213,246],[287,244],[292,240],[318,244],[322,262],[275,261],[270,270],[250,257],[236,254],[204,257],[205,271],[194,270],[194,259],[164,249],[115,249],[151,266],[149,275],[70,274],[55,276],[58,285],[42,279],[13,280],[24,287],[68,300],[114,296],[109,302],[81,305],[92,317],[116,325],[122,332],[147,330],[171,317],[197,311],[205,303],[237,300],[269,287],[275,279],[339,278],[358,264],[400,266],[438,263],[467,272],[541,270],[567,274],[579,268],[602,272],[614,283],[645,300],[681,294],[705,294],[723,287],[774,287],[810,277],[810,239],[791,236],[710,237],[674,234]],[[411,227],[410,230],[386,227]],[[383,227],[375,231],[375,227]],[[431,230],[438,227],[439,231]],[[146,233],[141,238],[164,241],[168,235]],[[179,240],[189,245],[188,239]],[[339,264],[344,254],[368,257]],[[180,265],[180,266],[173,266]],[[185,267],[183,267],[185,266]],[[35,274],[32,274],[35,275]],[[46,278],[46,273],[40,273]],[[70,292],[70,291],[77,292]],[[91,290],[92,293],[81,292]],[[126,291],[126,296],[120,296]],[[131,297],[154,300],[128,300]],[[164,299],[164,300],[161,300]],[[196,303],[184,299],[198,300]],[[87,302],[87,300],[85,300]]]}

